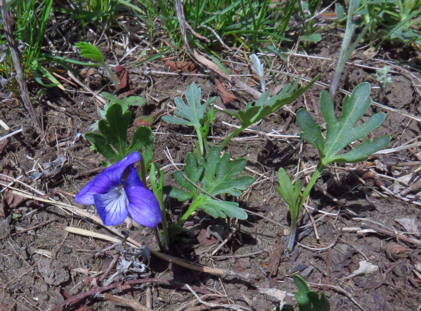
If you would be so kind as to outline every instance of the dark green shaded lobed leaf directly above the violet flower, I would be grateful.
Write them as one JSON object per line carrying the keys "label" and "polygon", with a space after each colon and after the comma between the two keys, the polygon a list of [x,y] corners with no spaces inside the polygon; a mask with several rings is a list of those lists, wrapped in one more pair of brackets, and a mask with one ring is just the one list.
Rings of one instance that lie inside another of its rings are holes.
{"label": "dark green shaded lobed leaf directly above the violet flower", "polygon": [[152,130],[144,126],[137,128],[128,147],[127,130],[130,125],[131,112],[123,112],[121,105],[114,103],[107,109],[105,117],[107,122],[104,119],[98,122],[101,134],[86,133],[85,138],[93,144],[96,151],[111,162],[117,162],[128,154],[139,151],[144,159],[145,167],[148,168],[152,161]]}

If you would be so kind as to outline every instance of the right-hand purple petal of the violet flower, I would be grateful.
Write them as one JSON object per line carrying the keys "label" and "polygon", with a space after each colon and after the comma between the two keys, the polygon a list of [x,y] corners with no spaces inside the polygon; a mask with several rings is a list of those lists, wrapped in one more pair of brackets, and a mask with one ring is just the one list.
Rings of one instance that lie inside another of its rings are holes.
{"label": "right-hand purple petal of the violet flower", "polygon": [[155,228],[162,221],[159,202],[149,189],[144,187],[124,187],[129,204],[129,217],[143,226]]}

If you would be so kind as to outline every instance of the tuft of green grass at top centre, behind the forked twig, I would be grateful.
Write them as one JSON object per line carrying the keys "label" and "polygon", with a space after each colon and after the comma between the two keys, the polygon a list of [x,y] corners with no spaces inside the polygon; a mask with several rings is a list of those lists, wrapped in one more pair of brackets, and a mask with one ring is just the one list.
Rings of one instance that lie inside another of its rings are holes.
{"label": "tuft of green grass at top centre, behind the forked twig", "polygon": [[[129,5],[126,0],[118,0]],[[179,21],[174,9],[174,0],[137,0],[144,12],[145,20],[156,16],[168,33],[171,43],[181,46],[182,38]],[[242,45],[247,51],[265,51],[277,47],[287,39],[288,22],[294,13],[298,0],[271,2],[270,0],[192,0],[184,2],[184,15],[189,25],[208,38],[211,43],[204,45],[196,37],[188,34],[193,47],[202,50],[218,50],[222,42],[232,48]],[[152,27],[150,29],[152,32]]]}

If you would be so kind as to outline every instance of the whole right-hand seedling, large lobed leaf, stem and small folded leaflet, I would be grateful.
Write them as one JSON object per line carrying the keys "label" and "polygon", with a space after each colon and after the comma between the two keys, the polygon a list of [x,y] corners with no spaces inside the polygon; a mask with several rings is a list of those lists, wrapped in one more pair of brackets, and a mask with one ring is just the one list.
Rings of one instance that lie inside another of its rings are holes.
{"label": "whole right-hand seedling, large lobed leaf, stem and small folded leaflet", "polygon": [[293,248],[296,235],[296,221],[298,220],[298,214],[304,204],[304,200],[309,195],[314,183],[316,183],[317,178],[320,177],[325,167],[332,162],[357,163],[364,161],[369,155],[384,149],[389,144],[390,136],[386,135],[376,138],[373,141],[366,139],[351,151],[341,153],[347,146],[358,139],[364,138],[368,133],[371,133],[383,123],[386,116],[384,113],[379,112],[371,116],[363,124],[355,127],[358,120],[367,111],[370,103],[370,85],[368,82],[360,83],[354,89],[351,96],[345,96],[342,115],[337,120],[332,98],[328,91],[323,91],[320,94],[320,110],[326,122],[326,139],[323,139],[320,125],[316,125],[310,114],[305,109],[298,110],[296,119],[298,126],[302,130],[301,138],[317,148],[320,160],[298,203],[296,202],[297,193],[299,192],[298,189],[301,189],[301,184],[296,183],[294,188],[285,171],[280,170],[279,172],[279,191],[288,204],[288,208],[293,210],[291,213],[292,224],[287,249],[292,250]]}

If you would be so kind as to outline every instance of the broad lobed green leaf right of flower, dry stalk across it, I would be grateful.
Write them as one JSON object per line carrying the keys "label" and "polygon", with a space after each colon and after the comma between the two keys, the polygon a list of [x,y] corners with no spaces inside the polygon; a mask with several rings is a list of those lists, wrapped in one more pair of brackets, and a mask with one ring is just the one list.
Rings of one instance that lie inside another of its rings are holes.
{"label": "broad lobed green leaf right of flower, dry stalk across it", "polygon": [[174,172],[174,179],[182,189],[172,187],[169,192],[170,197],[179,201],[193,199],[179,224],[184,223],[197,208],[202,208],[215,218],[247,218],[247,213],[236,202],[215,199],[219,194],[238,197],[254,181],[251,176],[238,176],[247,165],[246,159],[229,159],[229,153],[219,155],[218,146],[210,148],[205,158],[197,159],[192,152],[187,154],[184,174],[178,170]]}

